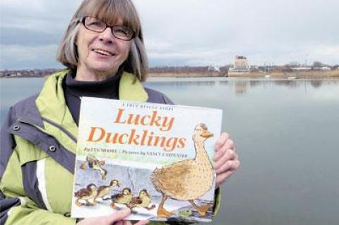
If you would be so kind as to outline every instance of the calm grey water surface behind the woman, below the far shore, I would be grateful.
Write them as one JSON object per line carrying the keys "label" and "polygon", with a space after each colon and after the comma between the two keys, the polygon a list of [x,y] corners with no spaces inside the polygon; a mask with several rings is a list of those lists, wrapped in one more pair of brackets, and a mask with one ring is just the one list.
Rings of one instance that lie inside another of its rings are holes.
{"label": "calm grey water surface behind the woman, below the far shore", "polygon": [[[1,79],[8,107],[42,78]],[[213,224],[338,224],[339,80],[152,78],[176,104],[223,110],[241,169],[222,187]]]}

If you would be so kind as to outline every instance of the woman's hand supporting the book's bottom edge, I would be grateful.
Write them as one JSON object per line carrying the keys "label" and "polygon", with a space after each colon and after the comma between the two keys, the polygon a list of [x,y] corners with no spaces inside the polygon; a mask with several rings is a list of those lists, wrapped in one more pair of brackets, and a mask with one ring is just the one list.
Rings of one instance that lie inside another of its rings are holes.
{"label": "woman's hand supporting the book's bottom edge", "polygon": [[[131,214],[131,209],[121,209],[105,217],[86,218],[77,223],[77,225],[131,225],[131,221],[123,220]],[[134,225],[145,225],[148,220],[138,221]]]}

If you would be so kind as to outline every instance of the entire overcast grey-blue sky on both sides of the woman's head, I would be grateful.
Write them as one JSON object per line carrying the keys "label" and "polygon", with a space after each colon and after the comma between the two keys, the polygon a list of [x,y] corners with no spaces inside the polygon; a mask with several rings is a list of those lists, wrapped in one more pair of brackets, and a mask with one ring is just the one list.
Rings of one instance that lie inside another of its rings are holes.
{"label": "entire overcast grey-blue sky on both sides of the woman's head", "polygon": [[[80,0],[1,0],[0,69],[61,68]],[[339,63],[338,0],[133,0],[150,66]]]}

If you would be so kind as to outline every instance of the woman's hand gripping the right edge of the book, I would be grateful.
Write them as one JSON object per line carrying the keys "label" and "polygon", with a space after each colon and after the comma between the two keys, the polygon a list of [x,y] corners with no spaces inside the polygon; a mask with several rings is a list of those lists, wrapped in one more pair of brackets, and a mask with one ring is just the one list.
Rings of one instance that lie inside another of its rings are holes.
{"label": "woman's hand gripping the right edge of the book", "polygon": [[216,188],[219,188],[234,171],[240,166],[238,155],[235,152],[234,142],[230,139],[228,133],[223,132],[220,138],[215,142],[214,164],[217,180]]}

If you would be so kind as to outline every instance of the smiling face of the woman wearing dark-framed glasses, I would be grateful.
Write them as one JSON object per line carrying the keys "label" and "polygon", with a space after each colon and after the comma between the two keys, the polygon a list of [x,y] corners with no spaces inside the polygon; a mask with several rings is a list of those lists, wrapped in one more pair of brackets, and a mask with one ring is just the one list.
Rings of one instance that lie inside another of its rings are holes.
{"label": "smiling face of the woman wearing dark-framed glasses", "polygon": [[[119,19],[117,24],[122,25]],[[86,29],[83,25],[78,32],[78,80],[105,80],[117,73],[119,66],[129,56],[131,41],[117,39],[111,28],[101,33]]]}

